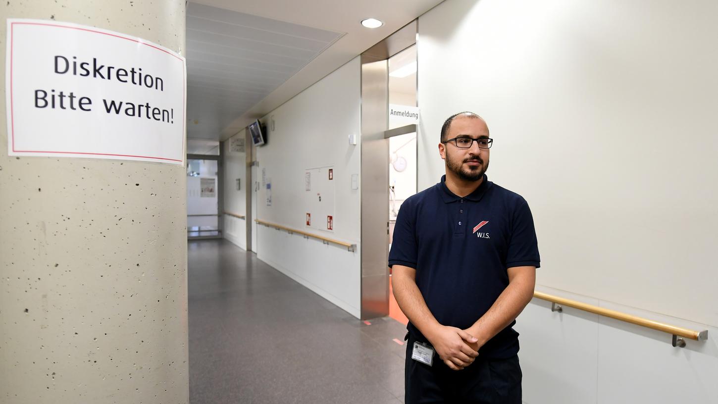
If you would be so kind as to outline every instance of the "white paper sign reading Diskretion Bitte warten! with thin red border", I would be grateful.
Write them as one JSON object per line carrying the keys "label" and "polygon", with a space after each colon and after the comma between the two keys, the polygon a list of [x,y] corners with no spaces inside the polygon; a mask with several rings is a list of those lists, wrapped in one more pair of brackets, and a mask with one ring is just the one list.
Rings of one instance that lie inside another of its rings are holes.
{"label": "white paper sign reading Diskretion Bitte warten! with thin red border", "polygon": [[185,58],[119,32],[7,19],[8,154],[185,162]]}

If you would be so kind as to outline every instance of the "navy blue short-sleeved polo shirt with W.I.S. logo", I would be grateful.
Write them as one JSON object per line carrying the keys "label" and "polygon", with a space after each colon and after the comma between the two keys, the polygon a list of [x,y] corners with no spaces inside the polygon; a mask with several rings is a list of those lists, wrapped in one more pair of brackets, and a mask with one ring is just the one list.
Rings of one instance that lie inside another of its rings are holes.
{"label": "navy blue short-sleeved polo shirt with W.I.S. logo", "polygon": [[[416,269],[416,286],[439,324],[467,329],[508,286],[507,268],[540,266],[536,230],[526,200],[484,175],[481,185],[458,197],[439,184],[401,204],[389,266]],[[513,321],[481,349],[488,358],[518,352]],[[426,342],[409,323],[409,332]]]}

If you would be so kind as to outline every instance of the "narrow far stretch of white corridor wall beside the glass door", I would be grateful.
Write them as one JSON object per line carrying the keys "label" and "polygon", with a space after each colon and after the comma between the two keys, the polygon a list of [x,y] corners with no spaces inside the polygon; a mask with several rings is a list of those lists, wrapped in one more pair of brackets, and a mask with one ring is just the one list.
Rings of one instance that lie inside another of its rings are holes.
{"label": "narrow far stretch of white corridor wall beside the glass door", "polygon": [[[236,135],[228,138],[223,143],[224,154],[224,210],[225,212],[245,216],[239,219],[230,215],[223,215],[224,227],[222,234],[224,238],[239,248],[247,248],[247,220],[246,220],[246,192],[251,184],[246,183],[247,162],[246,153],[232,151],[230,145],[234,138],[245,138],[244,129]],[[245,150],[250,145],[245,144]],[[237,190],[237,179],[240,179],[240,189]]]}

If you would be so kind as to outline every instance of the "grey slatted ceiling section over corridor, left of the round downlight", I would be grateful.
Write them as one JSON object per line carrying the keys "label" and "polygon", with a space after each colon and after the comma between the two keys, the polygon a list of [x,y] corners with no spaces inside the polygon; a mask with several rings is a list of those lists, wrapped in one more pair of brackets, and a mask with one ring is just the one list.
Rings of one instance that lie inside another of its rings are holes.
{"label": "grey slatted ceiling section over corridor, left of the round downlight", "polygon": [[342,37],[203,4],[187,6],[187,136],[216,138]]}

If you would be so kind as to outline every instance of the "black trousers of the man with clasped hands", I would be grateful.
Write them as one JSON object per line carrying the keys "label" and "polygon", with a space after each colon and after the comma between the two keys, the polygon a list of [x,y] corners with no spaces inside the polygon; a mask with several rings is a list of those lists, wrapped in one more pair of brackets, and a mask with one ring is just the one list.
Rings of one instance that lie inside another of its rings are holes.
{"label": "black trousers of the man with clasped hands", "polygon": [[521,366],[518,355],[487,359],[479,355],[463,370],[451,370],[434,353],[434,365],[411,359],[414,338],[406,343],[404,402],[521,404]]}

